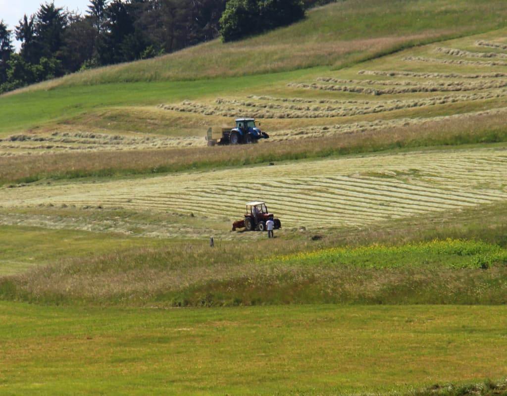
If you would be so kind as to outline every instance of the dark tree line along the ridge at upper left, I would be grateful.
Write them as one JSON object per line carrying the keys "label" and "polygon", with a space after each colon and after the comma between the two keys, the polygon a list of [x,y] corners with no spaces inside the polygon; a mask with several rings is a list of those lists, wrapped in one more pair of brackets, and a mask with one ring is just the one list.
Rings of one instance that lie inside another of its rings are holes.
{"label": "dark tree line along the ridge at upper left", "polygon": [[[90,0],[84,15],[54,3],[0,20],[0,93],[78,70],[147,59],[222,35],[224,41],[288,24],[333,0]],[[224,12],[225,11],[225,12]],[[14,51],[13,37],[21,43]]]}

